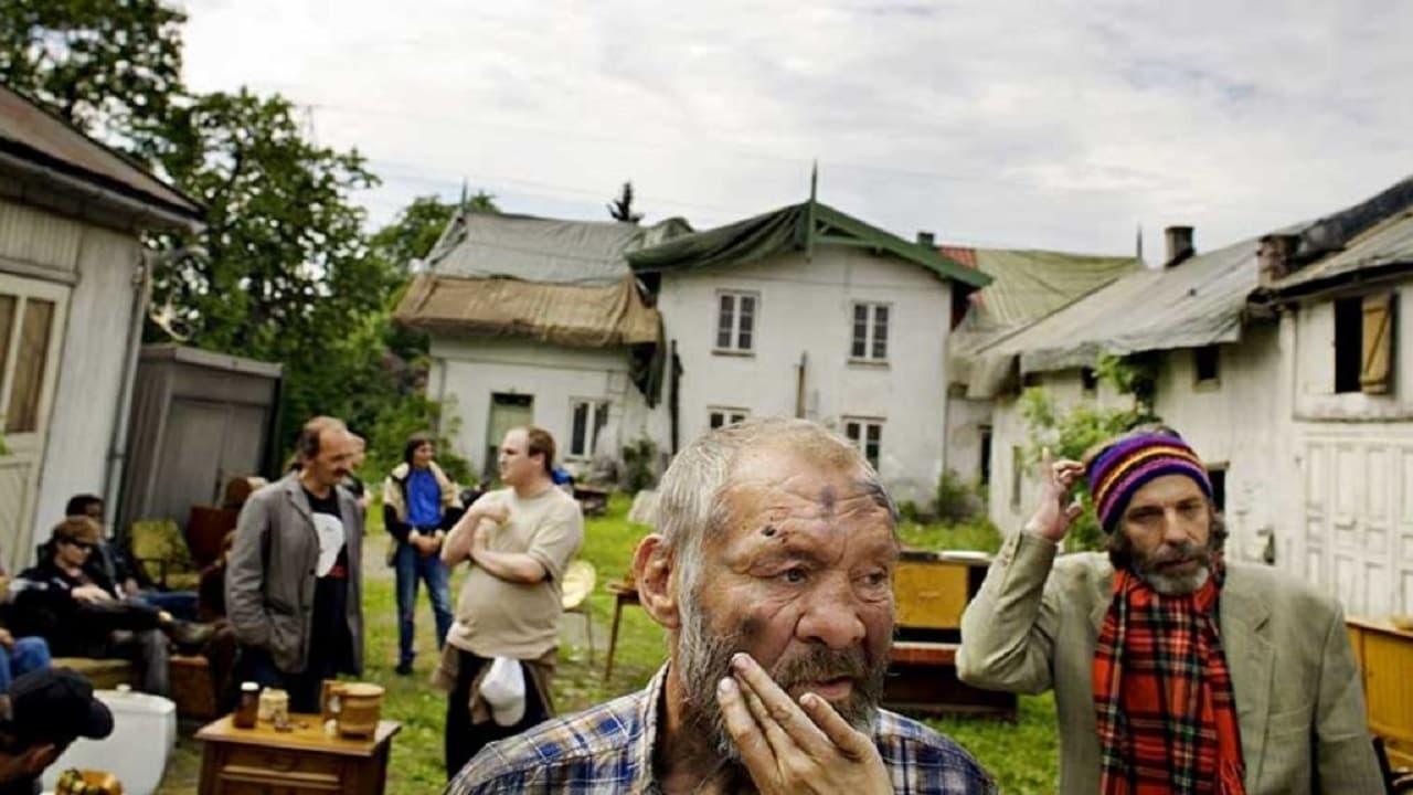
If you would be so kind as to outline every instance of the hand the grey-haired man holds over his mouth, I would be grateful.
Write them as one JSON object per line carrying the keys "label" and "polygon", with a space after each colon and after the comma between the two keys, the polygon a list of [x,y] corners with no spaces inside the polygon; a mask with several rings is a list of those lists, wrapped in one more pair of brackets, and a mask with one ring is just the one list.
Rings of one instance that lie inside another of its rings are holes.
{"label": "hand the grey-haired man holds over his mouth", "polygon": [[732,659],[732,676],[718,683],[716,700],[762,795],[893,792],[868,734],[815,693],[793,702],[750,655]]}

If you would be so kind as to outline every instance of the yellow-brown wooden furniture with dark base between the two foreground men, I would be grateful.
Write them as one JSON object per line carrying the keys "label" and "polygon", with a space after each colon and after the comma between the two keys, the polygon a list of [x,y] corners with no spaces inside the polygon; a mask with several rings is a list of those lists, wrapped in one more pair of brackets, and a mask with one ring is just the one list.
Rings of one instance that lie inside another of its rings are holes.
{"label": "yellow-brown wooden furniture with dark base between the two foreground men", "polygon": [[883,704],[927,714],[1016,719],[1015,693],[957,679],[962,611],[981,590],[989,560],[975,555],[906,550],[893,576],[897,610]]}

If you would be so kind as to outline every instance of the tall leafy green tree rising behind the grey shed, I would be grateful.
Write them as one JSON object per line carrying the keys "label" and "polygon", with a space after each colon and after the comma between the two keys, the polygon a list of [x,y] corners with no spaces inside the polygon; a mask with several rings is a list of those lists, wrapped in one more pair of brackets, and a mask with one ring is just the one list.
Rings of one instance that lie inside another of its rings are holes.
{"label": "tall leafy green tree rising behind the grey shed", "polygon": [[174,108],[154,154],[208,208],[184,240],[208,257],[155,273],[154,301],[202,348],[284,362],[283,439],[314,413],[376,413],[377,314],[401,274],[370,253],[350,201],[377,182],[363,157],[309,141],[287,99],[244,89]]}

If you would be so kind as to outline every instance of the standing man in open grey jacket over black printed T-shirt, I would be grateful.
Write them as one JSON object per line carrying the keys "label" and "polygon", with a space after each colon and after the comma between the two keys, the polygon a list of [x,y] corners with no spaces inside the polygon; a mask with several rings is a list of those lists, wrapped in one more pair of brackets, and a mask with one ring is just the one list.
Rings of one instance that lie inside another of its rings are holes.
{"label": "standing man in open grey jacket over black printed T-shirt", "polygon": [[353,439],[315,417],[300,468],[240,509],[226,571],[226,611],[240,641],[236,680],[284,687],[292,712],[319,712],[324,679],[363,671],[363,511],[339,482]]}

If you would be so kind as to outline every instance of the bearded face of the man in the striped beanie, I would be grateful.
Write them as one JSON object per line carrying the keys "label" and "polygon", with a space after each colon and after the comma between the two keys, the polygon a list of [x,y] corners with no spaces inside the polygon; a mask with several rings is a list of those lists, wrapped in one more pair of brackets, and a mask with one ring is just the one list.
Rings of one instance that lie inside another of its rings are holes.
{"label": "bearded face of the man in the striped beanie", "polygon": [[1197,481],[1154,478],[1133,494],[1118,532],[1135,573],[1160,594],[1190,594],[1211,571],[1212,511]]}

